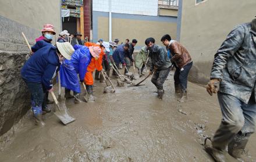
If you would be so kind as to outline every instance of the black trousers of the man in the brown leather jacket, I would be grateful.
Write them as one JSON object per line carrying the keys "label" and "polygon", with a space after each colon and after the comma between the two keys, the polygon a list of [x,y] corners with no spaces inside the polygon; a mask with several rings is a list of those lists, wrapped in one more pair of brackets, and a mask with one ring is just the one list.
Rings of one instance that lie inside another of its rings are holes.
{"label": "black trousers of the man in the brown leather jacket", "polygon": [[193,62],[186,64],[182,69],[176,67],[174,74],[174,84],[180,85],[182,89],[187,89],[187,76],[189,75],[189,71],[193,65]]}

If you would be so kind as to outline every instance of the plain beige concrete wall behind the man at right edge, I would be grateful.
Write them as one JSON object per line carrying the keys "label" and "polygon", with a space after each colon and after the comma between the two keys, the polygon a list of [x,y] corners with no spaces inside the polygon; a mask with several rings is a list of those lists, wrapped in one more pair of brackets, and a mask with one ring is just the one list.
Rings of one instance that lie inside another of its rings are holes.
{"label": "plain beige concrete wall behind the man at right edge", "polygon": [[234,26],[254,19],[256,1],[209,0],[197,5],[195,0],[181,2],[180,41],[194,62],[190,80],[205,84],[216,50]]}

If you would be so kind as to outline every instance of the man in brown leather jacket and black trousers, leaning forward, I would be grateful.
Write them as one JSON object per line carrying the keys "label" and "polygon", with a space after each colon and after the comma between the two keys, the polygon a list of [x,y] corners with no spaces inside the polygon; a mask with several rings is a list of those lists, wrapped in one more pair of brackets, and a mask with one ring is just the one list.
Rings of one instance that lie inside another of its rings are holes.
{"label": "man in brown leather jacket and black trousers, leaning forward", "polygon": [[193,65],[191,56],[187,49],[179,42],[172,40],[169,34],[163,35],[161,42],[166,46],[170,53],[171,62],[176,66],[174,74],[175,93],[181,91],[182,96],[179,101],[184,102],[187,99],[187,76]]}

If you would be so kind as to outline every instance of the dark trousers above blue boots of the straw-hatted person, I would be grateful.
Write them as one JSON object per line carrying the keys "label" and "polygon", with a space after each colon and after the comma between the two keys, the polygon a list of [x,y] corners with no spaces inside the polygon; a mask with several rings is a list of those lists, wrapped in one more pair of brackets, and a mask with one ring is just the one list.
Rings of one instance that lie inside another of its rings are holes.
{"label": "dark trousers above blue boots of the straw-hatted person", "polygon": [[31,105],[32,107],[44,107],[46,105],[44,89],[41,83],[27,82],[27,88],[31,93]]}

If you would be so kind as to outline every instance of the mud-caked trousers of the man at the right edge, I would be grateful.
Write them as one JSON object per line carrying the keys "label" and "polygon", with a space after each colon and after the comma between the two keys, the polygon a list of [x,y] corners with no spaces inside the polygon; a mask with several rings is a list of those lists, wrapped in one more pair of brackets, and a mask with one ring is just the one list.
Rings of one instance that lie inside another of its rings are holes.
{"label": "mud-caked trousers of the man at the right edge", "polygon": [[[253,92],[254,94],[254,92]],[[248,138],[255,131],[256,103],[254,95],[248,103],[241,102],[232,95],[218,92],[222,121],[212,140],[212,146],[225,150],[229,146],[229,154],[237,154],[233,149],[244,149]],[[232,153],[233,152],[233,153]]]}

